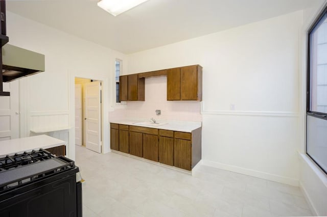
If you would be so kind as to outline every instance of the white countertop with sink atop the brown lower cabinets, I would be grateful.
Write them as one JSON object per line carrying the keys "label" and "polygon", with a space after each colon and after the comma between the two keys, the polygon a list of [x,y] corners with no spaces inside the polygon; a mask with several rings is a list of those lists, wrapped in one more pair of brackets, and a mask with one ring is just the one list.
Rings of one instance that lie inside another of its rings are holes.
{"label": "white countertop with sink atop the brown lower cabinets", "polygon": [[170,120],[157,120],[158,123],[167,123],[161,126],[136,124],[142,121],[149,121],[149,120],[118,120],[118,121],[110,121],[110,123],[142,126],[142,127],[156,128],[156,129],[166,129],[166,130],[181,131],[181,132],[192,132],[193,130],[200,128],[202,126],[202,122],[170,121]]}

